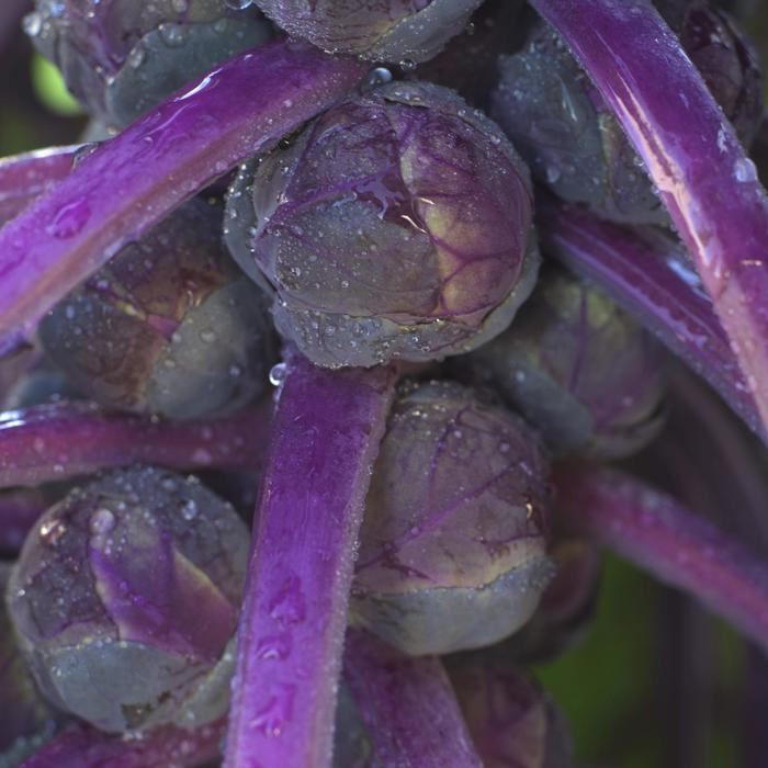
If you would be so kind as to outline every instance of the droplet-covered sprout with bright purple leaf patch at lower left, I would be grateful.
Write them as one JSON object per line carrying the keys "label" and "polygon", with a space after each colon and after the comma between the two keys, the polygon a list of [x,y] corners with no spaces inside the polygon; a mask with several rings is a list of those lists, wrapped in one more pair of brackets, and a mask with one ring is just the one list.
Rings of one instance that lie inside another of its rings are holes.
{"label": "droplet-covered sprout with bright purple leaf patch at lower left", "polygon": [[221,718],[248,539],[193,477],[134,467],[72,490],[27,537],[7,590],[44,696],[109,732]]}

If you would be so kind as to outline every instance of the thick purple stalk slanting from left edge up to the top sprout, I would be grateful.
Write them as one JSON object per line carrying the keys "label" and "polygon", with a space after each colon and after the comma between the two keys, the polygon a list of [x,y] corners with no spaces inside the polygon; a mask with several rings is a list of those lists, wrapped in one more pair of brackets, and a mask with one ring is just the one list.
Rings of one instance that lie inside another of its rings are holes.
{"label": "thick purple stalk slanting from left edge up to the top sprout", "polygon": [[272,43],[100,145],[0,230],[0,352],[124,245],[327,108],[365,71],[307,45]]}

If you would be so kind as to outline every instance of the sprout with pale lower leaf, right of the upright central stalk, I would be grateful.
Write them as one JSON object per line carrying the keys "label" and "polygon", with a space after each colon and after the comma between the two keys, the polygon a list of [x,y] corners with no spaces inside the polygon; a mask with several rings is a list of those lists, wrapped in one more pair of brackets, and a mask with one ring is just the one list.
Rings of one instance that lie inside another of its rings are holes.
{"label": "sprout with pale lower leaf, right of the upright central stalk", "polygon": [[406,389],[374,465],[352,620],[410,655],[510,635],[552,575],[547,502],[521,419],[451,382]]}

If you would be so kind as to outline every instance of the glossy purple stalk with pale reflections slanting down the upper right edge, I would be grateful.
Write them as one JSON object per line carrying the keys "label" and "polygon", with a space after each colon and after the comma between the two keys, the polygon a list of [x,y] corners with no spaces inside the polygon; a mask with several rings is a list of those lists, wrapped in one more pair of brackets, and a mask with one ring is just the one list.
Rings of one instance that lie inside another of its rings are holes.
{"label": "glossy purple stalk with pale reflections slanting down the upper right edge", "polygon": [[648,0],[532,0],[623,125],[768,423],[768,203],[722,110]]}

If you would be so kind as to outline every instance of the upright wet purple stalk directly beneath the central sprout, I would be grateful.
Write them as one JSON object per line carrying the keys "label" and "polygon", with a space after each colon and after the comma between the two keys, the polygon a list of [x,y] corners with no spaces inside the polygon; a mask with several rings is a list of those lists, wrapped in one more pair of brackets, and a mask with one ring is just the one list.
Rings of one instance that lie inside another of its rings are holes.
{"label": "upright wet purple stalk directly beneath the central sprout", "polygon": [[226,768],[329,765],[358,530],[392,369],[291,357],[238,634]]}

